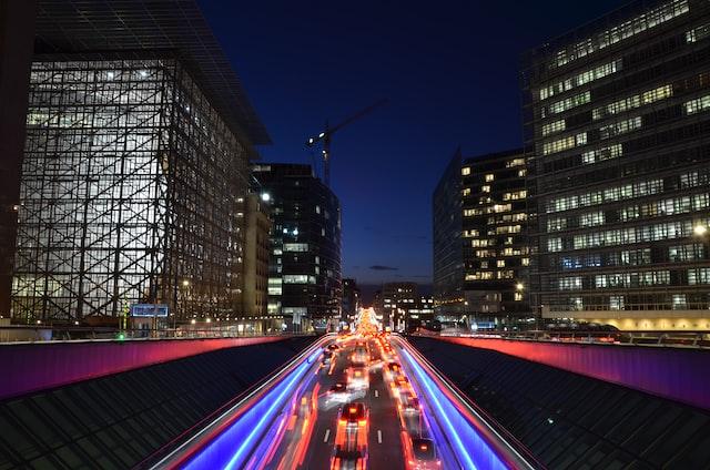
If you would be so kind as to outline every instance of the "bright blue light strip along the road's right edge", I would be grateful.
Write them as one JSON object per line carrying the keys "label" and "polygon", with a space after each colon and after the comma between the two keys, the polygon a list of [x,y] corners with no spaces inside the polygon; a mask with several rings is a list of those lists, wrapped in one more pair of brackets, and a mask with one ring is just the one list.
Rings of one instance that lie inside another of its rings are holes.
{"label": "bright blue light strip along the road's right edge", "polygon": [[506,464],[478,435],[474,426],[460,413],[448,397],[442,394],[428,374],[405,348],[400,349],[417,381],[426,389],[426,397],[434,405],[433,417],[444,425],[446,437],[454,445],[459,463],[467,469],[506,469]]}

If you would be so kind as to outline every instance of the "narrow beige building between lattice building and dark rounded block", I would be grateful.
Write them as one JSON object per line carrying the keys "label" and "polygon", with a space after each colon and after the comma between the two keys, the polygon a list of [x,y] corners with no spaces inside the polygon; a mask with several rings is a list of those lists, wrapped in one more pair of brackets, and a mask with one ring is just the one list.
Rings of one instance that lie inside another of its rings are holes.
{"label": "narrow beige building between lattice building and dark rounded block", "polygon": [[[250,193],[244,201],[244,275],[241,313],[266,315],[271,218],[268,203]],[[239,311],[239,310],[237,310]]]}

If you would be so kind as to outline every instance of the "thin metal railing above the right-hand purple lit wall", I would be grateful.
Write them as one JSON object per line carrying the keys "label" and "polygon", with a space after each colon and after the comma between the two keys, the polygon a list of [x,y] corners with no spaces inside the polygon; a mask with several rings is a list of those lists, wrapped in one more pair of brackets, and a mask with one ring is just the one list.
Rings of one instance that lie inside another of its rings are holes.
{"label": "thin metal railing above the right-hand purple lit wall", "polygon": [[570,344],[599,344],[619,346],[662,346],[679,348],[710,348],[710,331],[586,331],[586,330],[516,330],[467,331],[447,329],[442,333],[418,330],[415,336],[463,337],[481,339],[515,339]]}

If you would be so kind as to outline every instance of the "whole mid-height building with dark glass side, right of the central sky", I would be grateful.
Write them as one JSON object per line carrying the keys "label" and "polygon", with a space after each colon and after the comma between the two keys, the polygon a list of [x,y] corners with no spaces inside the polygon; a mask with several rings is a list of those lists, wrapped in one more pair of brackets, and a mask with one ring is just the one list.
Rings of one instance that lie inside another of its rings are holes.
{"label": "whole mid-height building with dark glass side, right of the central sky", "polygon": [[434,305],[443,320],[530,315],[529,207],[521,150],[463,159],[434,193]]}

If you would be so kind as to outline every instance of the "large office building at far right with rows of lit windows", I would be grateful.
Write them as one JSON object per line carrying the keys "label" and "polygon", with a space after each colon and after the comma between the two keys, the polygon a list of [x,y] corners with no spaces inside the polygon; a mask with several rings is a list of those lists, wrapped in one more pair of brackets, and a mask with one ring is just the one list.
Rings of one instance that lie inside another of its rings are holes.
{"label": "large office building at far right with rows of lit windows", "polygon": [[710,328],[710,4],[633,2],[531,51],[544,317]]}

